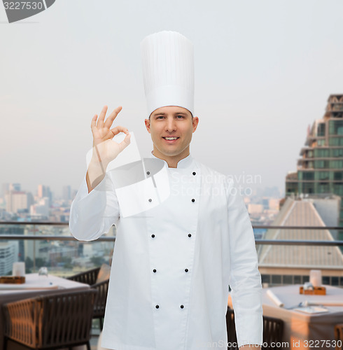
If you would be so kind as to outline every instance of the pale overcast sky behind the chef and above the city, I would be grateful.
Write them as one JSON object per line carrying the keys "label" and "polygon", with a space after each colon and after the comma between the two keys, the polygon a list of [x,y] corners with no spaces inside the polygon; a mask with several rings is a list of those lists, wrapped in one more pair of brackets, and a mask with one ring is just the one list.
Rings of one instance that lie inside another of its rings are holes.
{"label": "pale overcast sky behind the chef and above the city", "polygon": [[56,0],[12,24],[0,3],[0,184],[78,188],[104,104],[123,106],[116,123],[147,157],[139,43],[165,29],[195,47],[193,157],[283,192],[307,126],[343,92],[341,0]]}

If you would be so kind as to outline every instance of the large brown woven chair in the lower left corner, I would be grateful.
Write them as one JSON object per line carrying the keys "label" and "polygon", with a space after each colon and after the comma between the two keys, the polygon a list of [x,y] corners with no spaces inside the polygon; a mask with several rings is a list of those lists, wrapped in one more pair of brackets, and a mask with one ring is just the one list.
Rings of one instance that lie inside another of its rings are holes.
{"label": "large brown woven chair in the lower left corner", "polygon": [[3,305],[8,339],[29,349],[61,349],[87,345],[90,350],[94,300],[97,290],[41,295]]}

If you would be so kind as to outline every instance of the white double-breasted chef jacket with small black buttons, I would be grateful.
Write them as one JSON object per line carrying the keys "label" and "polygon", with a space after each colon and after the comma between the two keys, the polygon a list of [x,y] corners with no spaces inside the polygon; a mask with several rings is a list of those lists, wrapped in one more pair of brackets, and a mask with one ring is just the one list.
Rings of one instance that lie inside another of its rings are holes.
{"label": "white double-breasted chef jacket with small black buttons", "polygon": [[102,346],[226,349],[229,284],[238,346],[262,344],[255,239],[233,180],[191,155],[167,172],[169,197],[144,213],[120,217],[111,173],[90,193],[84,180],[71,205],[76,239],[117,227]]}

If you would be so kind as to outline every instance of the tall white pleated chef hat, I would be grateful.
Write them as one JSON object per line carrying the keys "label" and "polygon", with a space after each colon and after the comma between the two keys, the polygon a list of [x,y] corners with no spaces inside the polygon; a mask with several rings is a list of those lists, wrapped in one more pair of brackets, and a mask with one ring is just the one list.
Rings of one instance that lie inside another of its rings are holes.
{"label": "tall white pleated chef hat", "polygon": [[194,114],[193,44],[176,31],[160,31],[141,41],[144,89],[149,116],[164,106]]}

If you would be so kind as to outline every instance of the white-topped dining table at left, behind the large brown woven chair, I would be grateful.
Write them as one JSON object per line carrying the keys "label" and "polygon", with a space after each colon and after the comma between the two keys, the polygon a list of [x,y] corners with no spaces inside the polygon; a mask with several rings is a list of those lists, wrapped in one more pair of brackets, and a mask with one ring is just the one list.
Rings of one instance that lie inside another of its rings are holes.
{"label": "white-topped dining table at left, behind the large brown woven chair", "polygon": [[[2,305],[8,302],[15,302],[39,295],[51,295],[64,292],[77,292],[87,290],[90,286],[64,279],[53,274],[25,274],[25,283],[12,284],[0,283],[0,350],[3,350],[4,315]],[[27,349],[20,344],[8,341],[8,350]]]}

